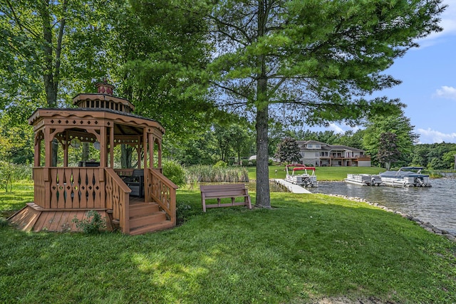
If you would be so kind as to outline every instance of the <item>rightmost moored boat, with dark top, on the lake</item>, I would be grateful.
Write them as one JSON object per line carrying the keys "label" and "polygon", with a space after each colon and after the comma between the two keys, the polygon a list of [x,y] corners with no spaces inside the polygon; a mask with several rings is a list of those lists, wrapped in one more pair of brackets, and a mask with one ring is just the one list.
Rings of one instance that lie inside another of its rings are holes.
{"label": "rightmost moored boat, with dark top, on the lake", "polygon": [[429,175],[422,174],[423,167],[401,167],[398,171],[380,173],[383,184],[392,187],[431,187]]}

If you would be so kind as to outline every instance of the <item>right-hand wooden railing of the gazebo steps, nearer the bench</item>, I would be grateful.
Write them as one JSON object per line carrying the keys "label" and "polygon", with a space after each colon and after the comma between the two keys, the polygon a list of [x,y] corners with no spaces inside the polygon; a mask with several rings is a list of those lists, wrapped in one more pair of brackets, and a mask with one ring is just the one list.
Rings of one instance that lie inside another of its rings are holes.
{"label": "right-hand wooden railing of the gazebo steps, nearer the bench", "polygon": [[149,200],[155,201],[166,212],[172,223],[176,224],[176,189],[177,186],[165,175],[155,169],[148,169],[147,192]]}

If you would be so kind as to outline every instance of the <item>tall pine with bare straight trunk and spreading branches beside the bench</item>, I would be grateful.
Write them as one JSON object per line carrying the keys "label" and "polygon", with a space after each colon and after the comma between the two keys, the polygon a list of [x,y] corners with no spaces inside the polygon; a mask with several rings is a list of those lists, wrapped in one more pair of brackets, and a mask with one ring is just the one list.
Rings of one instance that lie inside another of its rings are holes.
{"label": "tall pine with bare straight trunk and spreading branches beside the bench", "polygon": [[[137,0],[147,14],[157,4]],[[441,0],[159,1],[168,14],[204,20],[212,43],[208,80],[219,105],[252,113],[257,131],[257,204],[270,207],[268,128],[274,113],[323,124],[355,123],[370,112],[397,111],[398,100],[363,96],[398,80],[380,72],[440,31]],[[160,10],[158,10],[160,11]],[[173,20],[174,21],[174,20]],[[164,21],[164,22],[170,22]],[[280,105],[280,108],[277,107]],[[271,111],[270,111],[271,108]]]}

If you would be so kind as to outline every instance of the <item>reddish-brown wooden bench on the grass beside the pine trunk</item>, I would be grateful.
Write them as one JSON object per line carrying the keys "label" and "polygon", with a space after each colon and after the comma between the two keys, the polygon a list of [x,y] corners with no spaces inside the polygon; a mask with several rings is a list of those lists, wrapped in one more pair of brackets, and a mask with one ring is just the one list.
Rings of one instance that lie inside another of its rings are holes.
{"label": "reddish-brown wooden bench on the grass beside the pine trunk", "polygon": [[[249,192],[245,184],[211,184],[201,185],[202,211],[206,208],[225,206],[248,206],[252,209]],[[244,197],[244,201],[234,201],[237,197]],[[206,204],[206,199],[217,199],[217,204]],[[231,199],[231,203],[221,203],[221,199]]]}

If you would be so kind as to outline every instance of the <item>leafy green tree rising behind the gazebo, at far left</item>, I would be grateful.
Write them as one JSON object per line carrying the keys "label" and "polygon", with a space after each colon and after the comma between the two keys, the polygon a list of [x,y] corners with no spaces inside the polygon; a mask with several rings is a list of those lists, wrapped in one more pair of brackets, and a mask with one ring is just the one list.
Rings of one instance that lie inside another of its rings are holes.
{"label": "leafy green tree rising behind the gazebo, at far left", "polygon": [[[104,52],[97,47],[103,46],[102,37],[108,37],[104,10],[98,5],[103,4],[0,1],[0,75],[7,79],[0,83],[0,110],[24,121],[38,107],[66,104],[80,83],[89,83],[93,90],[91,81],[105,68],[99,60]],[[55,140],[53,165],[57,155]]]}

